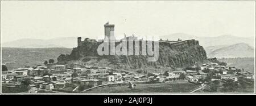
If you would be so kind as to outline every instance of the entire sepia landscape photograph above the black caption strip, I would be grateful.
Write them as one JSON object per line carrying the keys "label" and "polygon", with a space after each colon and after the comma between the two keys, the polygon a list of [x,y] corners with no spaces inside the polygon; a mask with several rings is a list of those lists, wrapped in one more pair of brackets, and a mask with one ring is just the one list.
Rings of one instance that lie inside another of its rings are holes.
{"label": "entire sepia landscape photograph above the black caption strip", "polygon": [[255,94],[255,1],[0,3],[2,95]]}

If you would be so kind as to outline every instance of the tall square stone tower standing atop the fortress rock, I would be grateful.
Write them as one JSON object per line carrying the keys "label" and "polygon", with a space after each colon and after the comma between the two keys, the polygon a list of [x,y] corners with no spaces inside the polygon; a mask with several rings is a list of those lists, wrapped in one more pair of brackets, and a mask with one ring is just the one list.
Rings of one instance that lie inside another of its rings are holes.
{"label": "tall square stone tower standing atop the fortress rock", "polygon": [[115,40],[114,27],[115,27],[115,25],[109,24],[109,22],[104,25],[104,28],[105,28],[105,38],[104,39],[108,38],[109,41]]}

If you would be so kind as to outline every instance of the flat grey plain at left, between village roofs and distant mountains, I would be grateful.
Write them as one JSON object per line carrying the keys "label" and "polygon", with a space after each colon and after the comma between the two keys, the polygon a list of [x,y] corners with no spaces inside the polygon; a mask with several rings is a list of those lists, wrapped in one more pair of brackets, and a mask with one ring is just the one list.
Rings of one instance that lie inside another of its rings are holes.
{"label": "flat grey plain at left, between village roofs and distant mountains", "polygon": [[9,48],[2,47],[2,63],[9,70],[43,64],[45,60],[54,59],[61,54],[70,54],[72,48]]}

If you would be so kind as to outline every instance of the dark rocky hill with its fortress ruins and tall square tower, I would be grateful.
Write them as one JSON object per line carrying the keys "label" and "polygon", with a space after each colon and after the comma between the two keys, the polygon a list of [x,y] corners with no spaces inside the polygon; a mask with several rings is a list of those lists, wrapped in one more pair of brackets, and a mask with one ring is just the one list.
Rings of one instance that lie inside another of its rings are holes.
{"label": "dark rocky hill with its fortress ruins and tall square tower", "polygon": [[[81,41],[81,37],[77,38],[77,47],[73,48],[70,55],[61,55],[58,58],[59,63],[67,64],[71,61],[77,61],[81,64],[86,65],[106,65],[108,67],[116,69],[141,69],[146,67],[151,68],[161,68],[161,67],[187,67],[195,63],[204,63],[207,61],[207,54],[202,46],[199,45],[199,41],[195,39],[189,39],[181,41],[169,41],[167,40],[158,40],[152,41],[152,45],[156,42],[159,43],[159,59],[157,61],[151,62],[147,61],[148,55],[142,55],[143,52],[139,51],[139,55],[98,55],[97,48],[104,42],[112,42],[111,39],[115,38],[114,36],[114,26],[113,24],[106,23],[104,25],[105,29],[105,39],[98,40],[85,38],[84,41]],[[108,41],[106,41],[108,38]],[[109,40],[110,39],[110,40]],[[135,54],[135,49],[142,50],[148,46],[143,46],[143,42],[148,42],[143,39],[138,39],[135,36],[124,37],[118,42],[114,42],[114,45],[117,46],[125,41],[133,41],[133,45],[127,43],[127,48],[133,46]],[[135,42],[139,42],[139,46],[134,46]],[[109,45],[110,46],[110,45]],[[105,49],[105,48],[104,48]],[[154,46],[152,50],[154,50]],[[111,51],[109,50],[111,53]],[[101,64],[105,63],[105,64]],[[104,67],[104,66],[101,66]]]}

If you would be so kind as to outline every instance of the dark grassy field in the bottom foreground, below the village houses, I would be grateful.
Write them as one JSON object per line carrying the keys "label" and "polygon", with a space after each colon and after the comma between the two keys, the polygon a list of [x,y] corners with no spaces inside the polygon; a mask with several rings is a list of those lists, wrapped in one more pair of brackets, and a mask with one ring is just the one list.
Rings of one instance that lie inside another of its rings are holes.
{"label": "dark grassy field in the bottom foreground, below the village houses", "polygon": [[124,92],[189,92],[198,87],[189,82],[137,84],[135,89],[126,86],[99,87],[84,93],[124,93]]}

